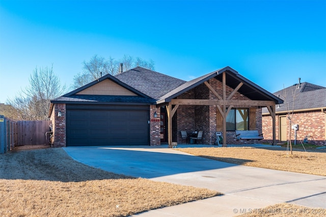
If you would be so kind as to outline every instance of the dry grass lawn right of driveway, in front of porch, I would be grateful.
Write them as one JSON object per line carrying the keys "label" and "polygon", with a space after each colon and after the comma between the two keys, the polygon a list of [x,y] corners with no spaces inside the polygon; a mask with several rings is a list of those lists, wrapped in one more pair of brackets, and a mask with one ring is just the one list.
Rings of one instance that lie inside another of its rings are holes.
{"label": "dry grass lawn right of driveway, in front of porch", "polygon": [[177,150],[233,164],[326,176],[325,152],[293,151],[291,156],[285,150],[252,147],[178,148]]}

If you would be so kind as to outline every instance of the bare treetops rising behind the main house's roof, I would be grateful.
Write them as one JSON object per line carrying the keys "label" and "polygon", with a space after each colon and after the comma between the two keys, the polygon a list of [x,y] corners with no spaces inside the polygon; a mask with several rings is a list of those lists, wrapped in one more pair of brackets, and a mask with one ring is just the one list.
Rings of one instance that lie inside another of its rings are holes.
{"label": "bare treetops rising behind the main house's roof", "polygon": [[83,73],[74,76],[72,88],[76,89],[84,86],[106,74],[116,75],[120,73],[120,63],[122,63],[123,71],[127,71],[133,67],[143,67],[154,70],[154,61],[146,61],[140,57],[132,57],[124,55],[121,59],[115,60],[111,56],[105,59],[102,56],[94,55],[88,62],[83,62]]}

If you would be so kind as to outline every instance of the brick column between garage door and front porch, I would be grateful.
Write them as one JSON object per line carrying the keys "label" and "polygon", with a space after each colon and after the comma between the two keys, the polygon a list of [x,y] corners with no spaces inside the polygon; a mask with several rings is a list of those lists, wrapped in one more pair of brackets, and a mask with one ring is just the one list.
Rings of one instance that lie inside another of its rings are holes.
{"label": "brick column between garage door and front porch", "polygon": [[[154,117],[156,112],[157,117]],[[155,105],[150,106],[149,110],[150,119],[150,145],[160,145],[160,108]]]}

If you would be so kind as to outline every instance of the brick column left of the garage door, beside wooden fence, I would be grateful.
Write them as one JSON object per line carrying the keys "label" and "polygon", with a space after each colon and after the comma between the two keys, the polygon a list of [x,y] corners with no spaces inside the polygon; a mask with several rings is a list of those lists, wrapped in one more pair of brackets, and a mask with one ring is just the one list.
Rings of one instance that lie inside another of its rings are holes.
{"label": "brick column left of the garage door, beside wooden fence", "polygon": [[[61,117],[58,112],[61,111]],[[66,104],[55,104],[55,123],[53,126],[55,134],[55,147],[66,147]]]}

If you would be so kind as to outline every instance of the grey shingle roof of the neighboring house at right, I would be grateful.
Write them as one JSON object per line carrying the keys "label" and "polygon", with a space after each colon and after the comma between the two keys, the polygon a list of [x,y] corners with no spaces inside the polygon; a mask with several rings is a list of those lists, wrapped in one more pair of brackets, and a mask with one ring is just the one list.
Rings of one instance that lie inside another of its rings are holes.
{"label": "grey shingle roof of the neighboring house at right", "polygon": [[[288,104],[289,111],[293,109],[293,96],[295,96],[294,110],[326,108],[326,87],[323,86],[303,82],[300,87],[294,84],[275,92],[274,95],[280,96]],[[287,106],[285,103],[280,104],[279,107],[277,106],[276,112],[286,112]],[[262,113],[268,113],[267,109],[263,108]]]}

